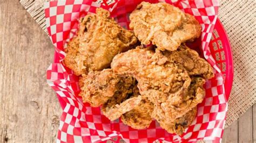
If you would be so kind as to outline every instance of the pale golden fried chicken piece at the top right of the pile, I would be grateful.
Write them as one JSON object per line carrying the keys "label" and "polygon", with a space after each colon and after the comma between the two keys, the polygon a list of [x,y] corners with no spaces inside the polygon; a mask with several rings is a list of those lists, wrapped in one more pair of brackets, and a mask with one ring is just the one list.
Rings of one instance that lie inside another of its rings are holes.
{"label": "pale golden fried chicken piece at the top right of the pile", "polygon": [[161,51],[175,51],[182,42],[199,38],[196,18],[167,4],[140,3],[130,15],[130,28],[142,44],[156,45]]}

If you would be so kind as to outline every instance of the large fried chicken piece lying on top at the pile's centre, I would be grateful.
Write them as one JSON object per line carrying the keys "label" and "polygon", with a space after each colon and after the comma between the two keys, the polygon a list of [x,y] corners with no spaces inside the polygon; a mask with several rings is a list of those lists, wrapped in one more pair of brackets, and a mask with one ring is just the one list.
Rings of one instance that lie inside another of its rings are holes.
{"label": "large fried chicken piece lying on top at the pile's centre", "polygon": [[167,100],[176,105],[183,102],[181,95],[191,79],[181,65],[167,60],[160,51],[137,47],[116,55],[111,68],[118,74],[135,77],[140,94],[151,102],[158,98],[158,102]]}

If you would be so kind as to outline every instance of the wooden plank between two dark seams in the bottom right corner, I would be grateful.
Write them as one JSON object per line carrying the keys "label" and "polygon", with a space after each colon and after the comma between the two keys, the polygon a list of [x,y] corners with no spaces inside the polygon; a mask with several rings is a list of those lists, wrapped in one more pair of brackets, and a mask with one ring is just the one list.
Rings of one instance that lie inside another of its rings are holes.
{"label": "wooden plank between two dark seams in the bottom right corner", "polygon": [[253,141],[252,108],[247,110],[238,120],[238,142]]}

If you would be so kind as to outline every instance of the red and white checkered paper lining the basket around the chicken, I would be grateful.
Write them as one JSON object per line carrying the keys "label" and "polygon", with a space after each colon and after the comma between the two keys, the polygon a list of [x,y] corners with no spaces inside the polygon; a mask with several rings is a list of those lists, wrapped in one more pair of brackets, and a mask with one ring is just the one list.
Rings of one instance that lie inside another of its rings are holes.
{"label": "red and white checkered paper lining the basket around the chicken", "polygon": [[99,4],[95,1],[55,1],[45,3],[45,18],[49,37],[55,45],[55,59],[47,70],[48,84],[56,91],[63,108],[57,142],[95,142],[123,138],[126,142],[194,142],[197,140],[221,141],[227,100],[224,90],[224,77],[215,65],[208,43],[211,40],[214,24],[217,20],[219,3],[214,0],[198,1],[147,1],[151,3],[166,2],[177,6],[186,13],[194,15],[202,27],[201,48],[206,60],[213,66],[215,77],[205,84],[206,97],[198,105],[196,119],[179,136],[167,133],[156,121],[149,128],[135,130],[120,120],[110,121],[100,112],[100,108],[92,108],[83,103],[78,96],[80,91],[78,77],[63,65],[65,53],[63,48],[76,36],[78,19],[87,13],[95,13],[96,8],[104,8],[111,12],[111,17],[123,27],[129,27],[129,13],[142,1],[115,1]]}

